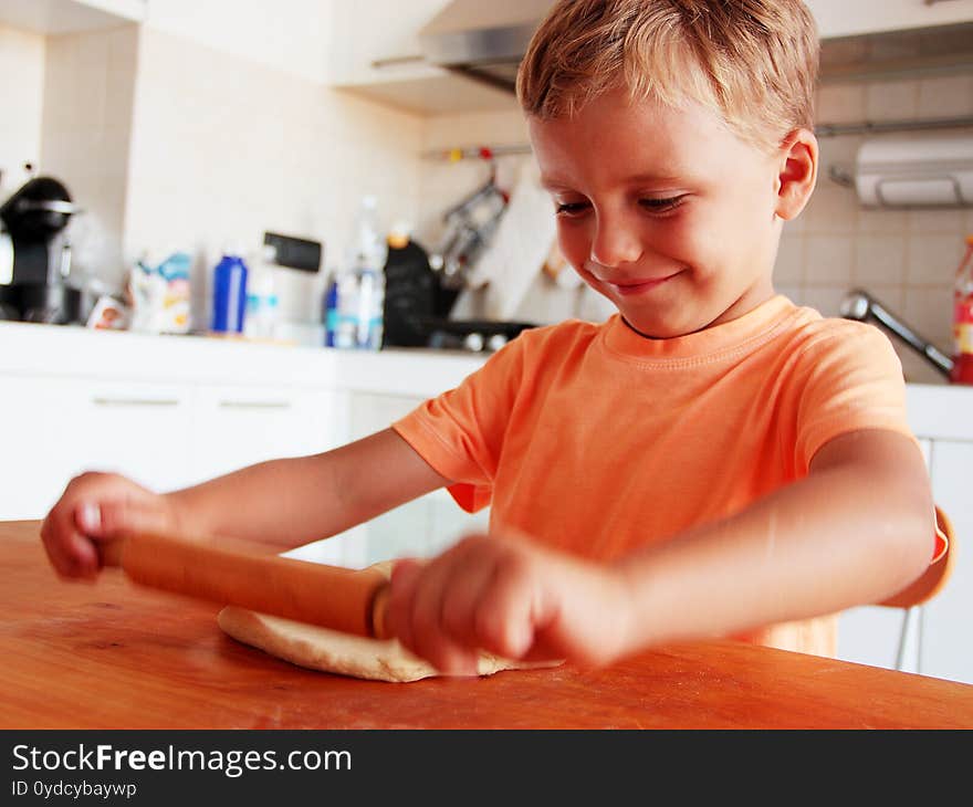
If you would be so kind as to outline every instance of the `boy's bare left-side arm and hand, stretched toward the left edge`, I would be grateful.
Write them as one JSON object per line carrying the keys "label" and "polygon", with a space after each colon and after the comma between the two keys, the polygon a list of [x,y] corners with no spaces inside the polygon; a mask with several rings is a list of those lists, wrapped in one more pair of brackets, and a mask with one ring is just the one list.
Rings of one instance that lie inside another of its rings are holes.
{"label": "boy's bare left-side arm and hand, stretched toward the left edge", "polygon": [[92,577],[96,544],[130,532],[232,536],[282,549],[335,535],[449,484],[391,429],[310,457],[271,460],[172,493],[117,474],[72,480],[41,528],[54,568]]}

